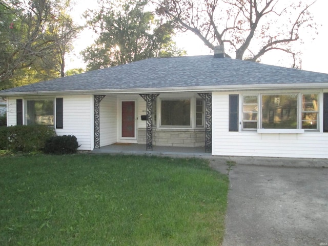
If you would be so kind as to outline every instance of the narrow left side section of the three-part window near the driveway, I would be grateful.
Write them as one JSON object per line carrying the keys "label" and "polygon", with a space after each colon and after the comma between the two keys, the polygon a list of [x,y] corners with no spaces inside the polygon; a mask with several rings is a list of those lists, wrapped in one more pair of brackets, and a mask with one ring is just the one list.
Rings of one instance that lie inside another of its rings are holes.
{"label": "narrow left side section of the three-part window near the driveway", "polygon": [[257,129],[258,96],[247,95],[242,98],[242,129]]}

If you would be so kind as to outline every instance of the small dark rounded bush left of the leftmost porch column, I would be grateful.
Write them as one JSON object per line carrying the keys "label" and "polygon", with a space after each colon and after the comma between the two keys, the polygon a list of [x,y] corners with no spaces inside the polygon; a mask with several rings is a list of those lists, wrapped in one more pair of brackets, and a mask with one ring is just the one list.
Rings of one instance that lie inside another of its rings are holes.
{"label": "small dark rounded bush left of the leftmost porch column", "polygon": [[54,136],[46,141],[44,152],[47,154],[73,154],[77,152],[78,142],[73,135]]}

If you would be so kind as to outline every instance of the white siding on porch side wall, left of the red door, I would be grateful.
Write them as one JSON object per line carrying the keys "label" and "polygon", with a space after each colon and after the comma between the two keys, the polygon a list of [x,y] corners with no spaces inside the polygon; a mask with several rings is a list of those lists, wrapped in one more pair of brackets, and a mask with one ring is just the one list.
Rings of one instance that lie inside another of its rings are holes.
{"label": "white siding on porch side wall, left of the red door", "polygon": [[100,101],[100,147],[115,144],[117,139],[116,96],[107,95]]}

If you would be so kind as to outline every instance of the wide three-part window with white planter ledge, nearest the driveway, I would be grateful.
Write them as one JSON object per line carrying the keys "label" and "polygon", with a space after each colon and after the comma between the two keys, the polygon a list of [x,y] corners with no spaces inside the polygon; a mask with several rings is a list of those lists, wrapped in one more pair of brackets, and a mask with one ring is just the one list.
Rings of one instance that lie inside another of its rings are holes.
{"label": "wide three-part window with white planter ledge, nearest the driveway", "polygon": [[242,129],[318,129],[318,94],[242,97]]}

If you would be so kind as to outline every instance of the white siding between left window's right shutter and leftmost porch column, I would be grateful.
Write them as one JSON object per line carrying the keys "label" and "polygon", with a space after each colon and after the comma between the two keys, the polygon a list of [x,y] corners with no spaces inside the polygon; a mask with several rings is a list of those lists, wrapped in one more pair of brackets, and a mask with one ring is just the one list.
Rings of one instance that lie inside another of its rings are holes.
{"label": "white siding between left window's right shutter and leftmost porch column", "polygon": [[74,135],[79,150],[93,150],[93,95],[63,97],[63,129],[58,135]]}

